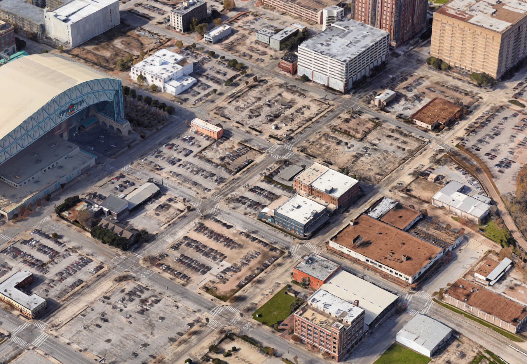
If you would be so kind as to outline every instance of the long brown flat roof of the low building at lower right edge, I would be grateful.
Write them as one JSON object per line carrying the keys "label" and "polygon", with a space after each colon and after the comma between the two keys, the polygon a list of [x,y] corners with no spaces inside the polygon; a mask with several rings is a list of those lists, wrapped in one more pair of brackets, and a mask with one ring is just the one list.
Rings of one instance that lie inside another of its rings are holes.
{"label": "long brown flat roof of the low building at lower right edge", "polygon": [[458,279],[452,286],[448,287],[445,294],[512,325],[518,324],[527,314],[527,307],[523,304],[463,278]]}

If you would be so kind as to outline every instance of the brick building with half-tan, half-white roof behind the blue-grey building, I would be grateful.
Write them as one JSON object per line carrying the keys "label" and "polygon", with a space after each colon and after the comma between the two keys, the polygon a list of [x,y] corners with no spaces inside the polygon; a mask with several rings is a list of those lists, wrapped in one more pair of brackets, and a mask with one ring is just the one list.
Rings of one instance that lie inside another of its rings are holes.
{"label": "brick building with half-tan, half-white roof behind the blue-grey building", "polygon": [[346,205],[359,192],[358,181],[332,170],[320,163],[313,163],[293,180],[295,191],[324,200],[335,206]]}

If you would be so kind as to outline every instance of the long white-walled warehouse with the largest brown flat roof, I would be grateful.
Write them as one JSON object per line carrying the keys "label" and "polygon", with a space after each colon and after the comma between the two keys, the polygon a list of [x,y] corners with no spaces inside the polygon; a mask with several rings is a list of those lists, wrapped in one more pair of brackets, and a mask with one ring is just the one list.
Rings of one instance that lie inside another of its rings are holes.
{"label": "long white-walled warehouse with the largest brown flat roof", "polygon": [[430,242],[364,214],[331,238],[329,247],[408,284],[421,277],[444,253]]}

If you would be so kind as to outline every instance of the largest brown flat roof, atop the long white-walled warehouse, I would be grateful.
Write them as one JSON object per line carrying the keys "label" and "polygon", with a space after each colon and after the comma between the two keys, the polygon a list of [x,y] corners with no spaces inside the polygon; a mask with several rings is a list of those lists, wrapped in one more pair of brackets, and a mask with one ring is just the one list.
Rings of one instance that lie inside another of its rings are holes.
{"label": "largest brown flat roof, atop the long white-walled warehouse", "polygon": [[[355,246],[353,239],[357,235],[362,236],[363,241]],[[414,276],[442,251],[431,243],[368,215],[360,215],[355,219],[355,225],[347,225],[331,241],[407,276]],[[402,260],[403,254],[408,255],[409,259]]]}

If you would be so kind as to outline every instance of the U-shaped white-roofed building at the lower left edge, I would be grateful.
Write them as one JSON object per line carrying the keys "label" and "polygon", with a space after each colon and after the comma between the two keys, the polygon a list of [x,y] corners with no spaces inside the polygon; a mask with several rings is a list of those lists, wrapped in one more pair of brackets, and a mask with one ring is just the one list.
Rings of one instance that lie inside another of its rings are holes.
{"label": "U-shaped white-roofed building at the lower left edge", "polygon": [[11,277],[0,283],[0,301],[13,306],[28,319],[34,319],[47,307],[47,302],[36,293],[27,295],[23,288],[33,282],[33,273],[19,270]]}

